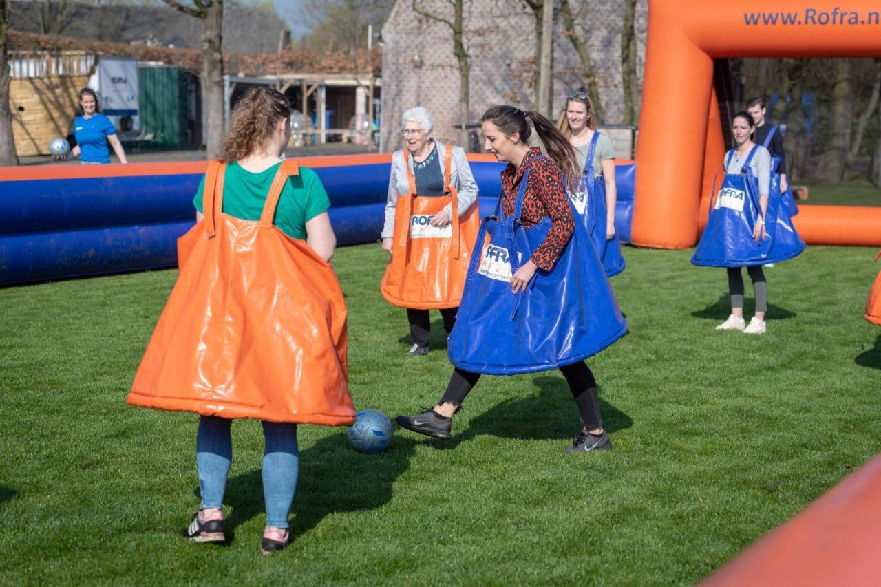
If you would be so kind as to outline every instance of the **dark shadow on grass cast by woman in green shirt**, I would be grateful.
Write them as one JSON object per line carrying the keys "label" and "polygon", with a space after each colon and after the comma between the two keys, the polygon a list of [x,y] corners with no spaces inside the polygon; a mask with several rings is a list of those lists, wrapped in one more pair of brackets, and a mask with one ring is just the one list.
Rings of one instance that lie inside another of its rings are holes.
{"label": "dark shadow on grass cast by woman in green shirt", "polygon": [[[374,509],[392,498],[392,484],[410,467],[416,442],[396,435],[388,450],[365,455],[349,447],[344,434],[334,434],[300,451],[300,476],[293,499],[292,539],[321,523],[325,516]],[[227,543],[235,529],[263,516],[260,471],[236,475],[226,484],[224,503],[232,509],[226,518]]]}

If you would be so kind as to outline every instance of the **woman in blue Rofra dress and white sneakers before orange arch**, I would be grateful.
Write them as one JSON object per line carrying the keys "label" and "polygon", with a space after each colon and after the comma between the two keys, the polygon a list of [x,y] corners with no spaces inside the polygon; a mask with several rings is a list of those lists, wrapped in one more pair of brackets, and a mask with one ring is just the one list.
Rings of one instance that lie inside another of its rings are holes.
{"label": "woman in blue Rofra dress and white sneakers before orange arch", "polygon": [[[738,112],[731,122],[735,148],[725,155],[725,179],[714,194],[704,234],[692,256],[692,263],[728,269],[731,315],[716,326],[721,331],[766,332],[768,295],[762,265],[786,261],[804,250],[804,241],[792,226],[779,191],[771,190],[771,154],[752,142],[756,125],[747,112]],[[744,321],[744,279],[741,268],[752,280],[756,314]]]}

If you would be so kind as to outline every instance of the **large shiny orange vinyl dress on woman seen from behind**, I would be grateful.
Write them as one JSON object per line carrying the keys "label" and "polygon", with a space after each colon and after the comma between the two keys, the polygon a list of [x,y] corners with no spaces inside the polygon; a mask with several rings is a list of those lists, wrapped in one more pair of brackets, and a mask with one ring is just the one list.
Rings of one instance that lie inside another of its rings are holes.
{"label": "large shiny orange vinyl dress on woman seen from behind", "polygon": [[135,375],[131,405],[222,418],[351,425],[346,308],[333,268],[272,226],[299,167],[285,160],[260,220],[223,210],[226,165],[205,175],[204,219]]}

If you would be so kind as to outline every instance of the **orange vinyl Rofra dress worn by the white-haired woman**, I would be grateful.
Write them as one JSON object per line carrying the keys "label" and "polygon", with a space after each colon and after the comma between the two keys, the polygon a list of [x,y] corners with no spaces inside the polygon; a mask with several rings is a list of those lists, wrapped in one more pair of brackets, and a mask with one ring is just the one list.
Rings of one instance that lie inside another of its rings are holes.
{"label": "orange vinyl Rofra dress worn by the white-haired woman", "polygon": [[[403,151],[410,193],[397,197],[395,238],[391,261],[382,277],[382,297],[401,308],[456,308],[462,301],[465,275],[478,238],[478,202],[459,218],[459,200],[450,185],[453,145],[447,145],[444,169],[445,196],[418,196],[410,169],[410,152]],[[450,223],[432,227],[428,221],[452,203]]]}

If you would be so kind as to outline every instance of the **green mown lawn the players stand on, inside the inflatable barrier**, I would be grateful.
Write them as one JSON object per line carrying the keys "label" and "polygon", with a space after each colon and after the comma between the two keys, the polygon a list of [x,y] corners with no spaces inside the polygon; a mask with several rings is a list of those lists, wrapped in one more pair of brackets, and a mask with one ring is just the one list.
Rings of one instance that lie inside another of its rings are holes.
{"label": "green mown lawn the players stand on, inside the inflatable barrier", "polygon": [[[232,539],[189,544],[196,416],[124,402],[176,271],[0,289],[0,583],[697,582],[879,450],[875,252],[766,270],[768,334],[751,338],[713,330],[724,271],[627,248],[612,283],[630,333],[588,361],[614,450],[561,452],[578,419],[558,372],[485,377],[446,443],[396,430],[365,456],[304,426],[294,540],[271,557],[259,424],[233,426]],[[411,414],[450,365],[439,316],[433,352],[403,357],[384,262],[378,245],[335,259],[350,383],[359,408]]]}

